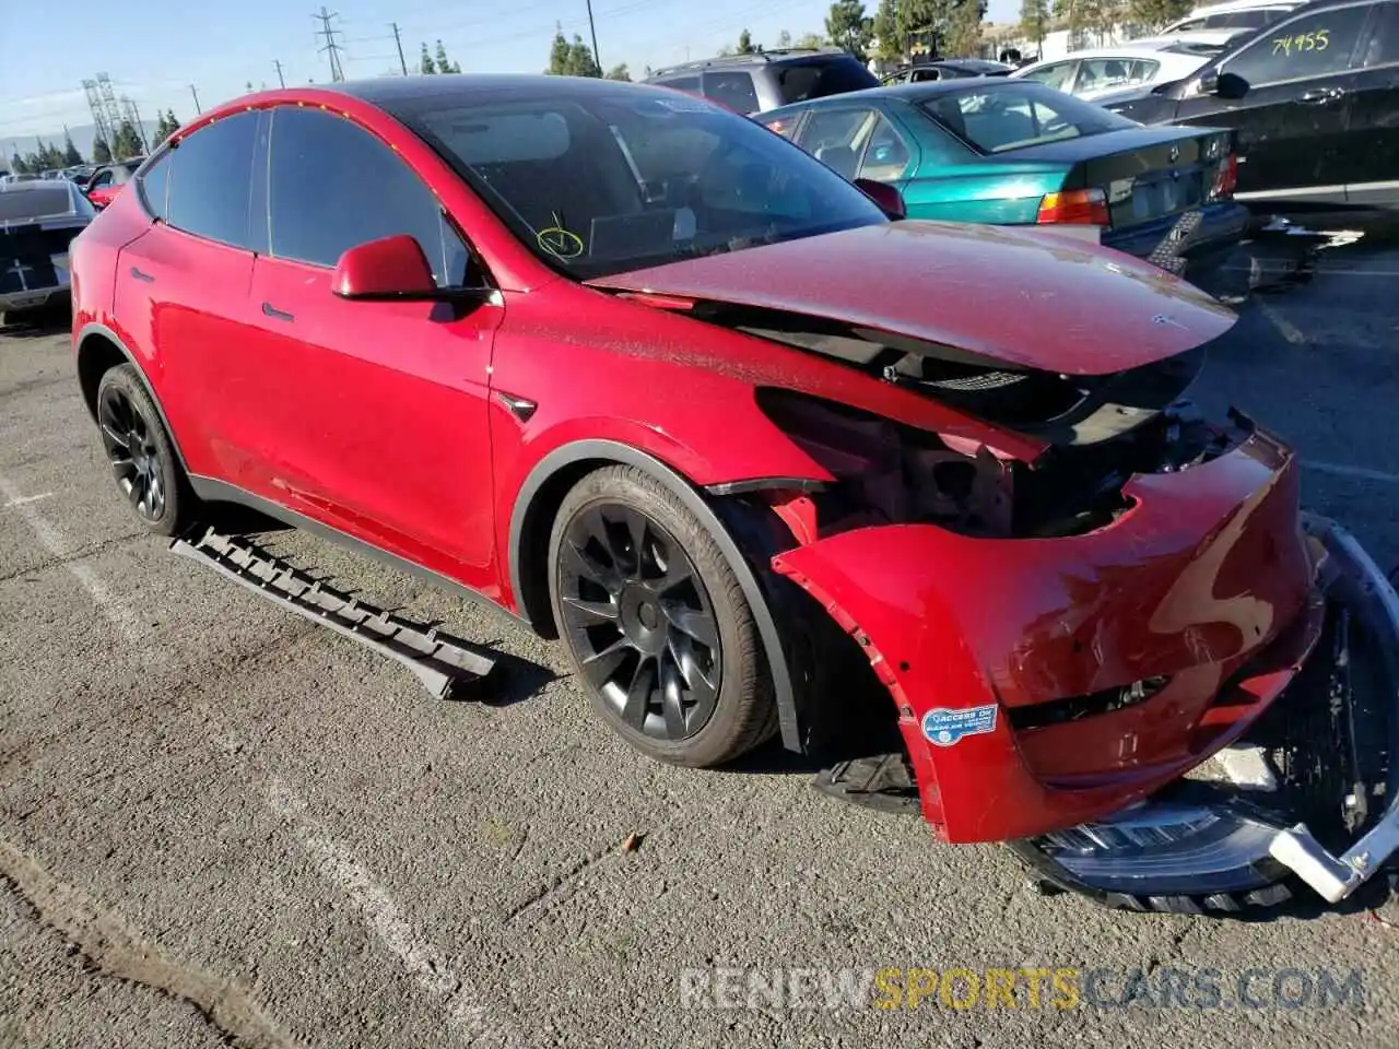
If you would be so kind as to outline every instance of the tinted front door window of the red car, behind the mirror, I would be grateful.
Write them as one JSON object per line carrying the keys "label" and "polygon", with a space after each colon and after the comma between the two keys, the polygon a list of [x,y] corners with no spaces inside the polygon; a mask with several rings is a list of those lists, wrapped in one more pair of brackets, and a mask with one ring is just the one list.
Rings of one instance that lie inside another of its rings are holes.
{"label": "tinted front door window of the red car, behind the mirror", "polygon": [[417,175],[369,131],[316,109],[271,119],[267,183],[271,253],[334,266],[350,248],[407,234],[438,287],[467,283],[466,245]]}

